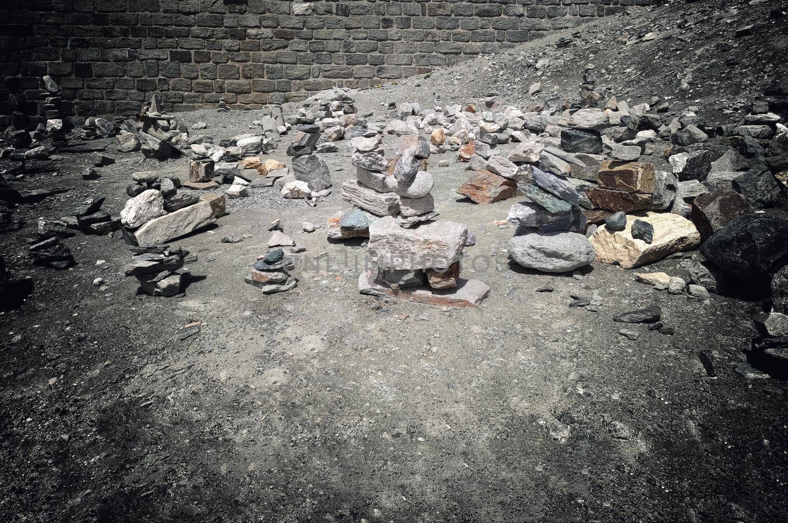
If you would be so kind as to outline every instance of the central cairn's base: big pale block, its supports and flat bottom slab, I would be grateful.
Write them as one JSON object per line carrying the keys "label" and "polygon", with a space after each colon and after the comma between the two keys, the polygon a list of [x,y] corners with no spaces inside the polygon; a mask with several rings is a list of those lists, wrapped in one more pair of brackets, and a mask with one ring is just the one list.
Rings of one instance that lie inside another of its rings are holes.
{"label": "central cairn's base: big pale block, its supports and flat bottom slab", "polygon": [[403,228],[395,217],[370,224],[372,265],[359,276],[359,292],[438,306],[477,306],[489,294],[479,280],[459,277],[468,230],[453,221]]}

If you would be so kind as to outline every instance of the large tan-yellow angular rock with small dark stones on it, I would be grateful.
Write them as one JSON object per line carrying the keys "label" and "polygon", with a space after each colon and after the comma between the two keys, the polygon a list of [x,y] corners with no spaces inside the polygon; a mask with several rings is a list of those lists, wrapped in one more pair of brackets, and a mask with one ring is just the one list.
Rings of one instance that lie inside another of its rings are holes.
{"label": "large tan-yellow angular rock with small dark stones on it", "polygon": [[[632,237],[632,224],[638,219],[649,222],[654,228],[652,243]],[[607,227],[600,227],[590,240],[597,251],[597,261],[634,269],[659,261],[668,254],[694,249],[701,243],[701,234],[691,221],[678,214],[649,212],[628,216],[623,231],[613,232]]]}

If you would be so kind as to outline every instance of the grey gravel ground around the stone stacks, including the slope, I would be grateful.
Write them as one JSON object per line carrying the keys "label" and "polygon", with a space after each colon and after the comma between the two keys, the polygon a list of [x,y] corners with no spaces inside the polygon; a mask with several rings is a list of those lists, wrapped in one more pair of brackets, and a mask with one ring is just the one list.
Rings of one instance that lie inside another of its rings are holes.
{"label": "grey gravel ground around the stone stacks, including the slope", "polygon": [[[739,83],[719,68],[734,60],[727,67],[755,69],[746,39],[785,50],[785,26],[768,20],[778,3],[633,9],[594,22],[595,32],[576,30],[568,47],[555,43],[571,32],[481,58],[489,70],[463,64],[353,95],[381,126],[382,103],[430,106],[434,92],[459,103],[497,91],[526,106],[519,92],[539,80],[534,103],[575,95],[593,60],[620,75],[611,83],[627,85],[635,103],[675,92],[676,110],[697,105],[735,120],[738,100],[767,88],[775,62],[759,58],[762,74]],[[753,13],[759,29],[730,47],[730,32]],[[656,39],[643,41],[650,32]],[[668,60],[672,46],[682,54]],[[667,61],[659,70],[636,58],[649,49]],[[565,64],[546,78],[518,69],[531,56]],[[696,91],[676,89],[679,62]],[[723,85],[730,95],[716,95]],[[249,132],[259,114],[177,117],[206,122],[201,133],[218,140]],[[91,196],[117,215],[131,172],[188,178],[184,159],[143,160],[118,152],[117,139],[95,143],[117,162],[82,180],[88,155],[64,154],[59,176],[14,182],[68,191],[23,206],[24,228],[0,236],[9,272],[32,287],[0,314],[3,521],[780,521],[788,508],[786,386],[749,372],[742,353],[764,295],[704,300],[637,282],[643,269],[594,263],[549,275],[510,264],[514,228],[496,221],[512,200],[481,206],[457,195],[469,171],[452,153],[429,158],[436,210],[476,236],[463,274],[489,284],[489,297],[455,310],[359,295],[362,241],[329,242],[325,229],[301,226],[325,228],[348,207],[339,186],[355,172],[340,142],[320,155],[333,177],[329,197],[313,208],[263,187],[229,199],[209,230],[175,242],[197,256],[184,295],[154,298],[124,276],[130,252],[117,234],[63,239],[77,261],[65,271],[29,261],[38,217],[64,216]],[[265,158],[289,165],[287,143]],[[384,145],[396,149],[391,136]],[[644,160],[664,168],[659,154]],[[307,250],[292,255],[298,287],[261,295],[243,278],[277,218]],[[228,236],[243,240],[222,243]],[[682,261],[648,271],[689,280]],[[595,292],[597,311],[571,306]],[[637,339],[619,335],[615,315],[652,305],[675,335],[645,325],[626,325]],[[712,355],[716,376],[699,351]]]}

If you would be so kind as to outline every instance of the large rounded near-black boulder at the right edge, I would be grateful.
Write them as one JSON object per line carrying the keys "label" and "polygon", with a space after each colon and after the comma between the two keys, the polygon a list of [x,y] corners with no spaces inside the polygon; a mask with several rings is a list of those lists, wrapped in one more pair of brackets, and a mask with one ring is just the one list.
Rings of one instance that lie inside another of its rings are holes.
{"label": "large rounded near-black boulder at the right edge", "polygon": [[788,264],[786,231],[788,213],[745,214],[715,232],[701,253],[726,273],[757,280]]}

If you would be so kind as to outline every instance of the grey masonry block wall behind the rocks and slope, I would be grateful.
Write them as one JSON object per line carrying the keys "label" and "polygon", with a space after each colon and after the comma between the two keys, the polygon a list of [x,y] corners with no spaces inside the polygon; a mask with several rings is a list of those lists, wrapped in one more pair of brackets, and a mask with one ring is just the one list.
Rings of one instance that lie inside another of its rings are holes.
{"label": "grey masonry block wall behind the rocks and slope", "polygon": [[659,0],[2,0],[0,113],[40,113],[40,77],[68,117],[258,107],[495,53]]}

